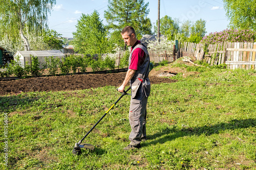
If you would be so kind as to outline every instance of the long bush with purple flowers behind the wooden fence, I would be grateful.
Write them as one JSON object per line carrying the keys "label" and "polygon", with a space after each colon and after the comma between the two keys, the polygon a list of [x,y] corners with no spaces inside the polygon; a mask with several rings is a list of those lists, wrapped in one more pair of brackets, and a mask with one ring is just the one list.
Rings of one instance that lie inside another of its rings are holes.
{"label": "long bush with purple flowers behind the wooden fence", "polygon": [[256,42],[256,32],[252,30],[226,29],[221,32],[210,33],[204,36],[200,43],[215,44],[228,42]]}

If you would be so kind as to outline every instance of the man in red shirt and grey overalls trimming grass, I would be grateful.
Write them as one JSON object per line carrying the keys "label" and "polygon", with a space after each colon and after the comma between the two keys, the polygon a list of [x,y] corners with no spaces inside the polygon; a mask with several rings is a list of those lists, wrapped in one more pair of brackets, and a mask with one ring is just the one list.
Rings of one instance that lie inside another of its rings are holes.
{"label": "man in red shirt and grey overalls trimming grass", "polygon": [[141,148],[141,140],[146,140],[146,104],[150,95],[150,56],[147,48],[136,38],[133,27],[127,26],[121,32],[124,42],[132,46],[129,57],[129,69],[122,85],[118,88],[123,92],[127,83],[131,85],[131,104],[129,110],[129,121],[132,131],[129,136],[130,144],[124,150]]}

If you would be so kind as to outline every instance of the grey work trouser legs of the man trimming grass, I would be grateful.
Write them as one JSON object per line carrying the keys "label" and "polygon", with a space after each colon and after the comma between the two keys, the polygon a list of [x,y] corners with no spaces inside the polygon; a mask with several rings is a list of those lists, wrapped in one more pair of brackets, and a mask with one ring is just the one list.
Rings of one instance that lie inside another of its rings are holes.
{"label": "grey work trouser legs of the man trimming grass", "polygon": [[129,121],[132,128],[129,136],[131,145],[138,145],[141,139],[146,138],[146,104],[147,98],[139,88],[135,98],[131,99],[129,110]]}

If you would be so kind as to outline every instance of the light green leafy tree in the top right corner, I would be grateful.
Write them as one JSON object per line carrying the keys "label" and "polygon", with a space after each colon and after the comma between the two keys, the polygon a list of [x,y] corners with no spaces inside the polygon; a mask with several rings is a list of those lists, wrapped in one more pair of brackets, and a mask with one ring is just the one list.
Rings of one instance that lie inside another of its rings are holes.
{"label": "light green leafy tree in the top right corner", "polygon": [[256,0],[224,0],[231,28],[256,30]]}

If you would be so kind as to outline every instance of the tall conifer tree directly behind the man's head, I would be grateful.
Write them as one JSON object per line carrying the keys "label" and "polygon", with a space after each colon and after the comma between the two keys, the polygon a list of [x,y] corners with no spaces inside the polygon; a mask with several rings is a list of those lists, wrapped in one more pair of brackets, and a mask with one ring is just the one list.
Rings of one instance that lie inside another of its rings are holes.
{"label": "tall conifer tree directly behind the man's head", "polygon": [[152,34],[151,20],[147,18],[149,11],[148,3],[145,4],[144,0],[109,0],[104,17],[112,38],[117,39],[116,43],[124,44],[119,35],[125,26],[132,26],[138,39],[144,34]]}

